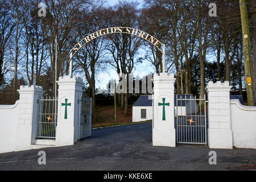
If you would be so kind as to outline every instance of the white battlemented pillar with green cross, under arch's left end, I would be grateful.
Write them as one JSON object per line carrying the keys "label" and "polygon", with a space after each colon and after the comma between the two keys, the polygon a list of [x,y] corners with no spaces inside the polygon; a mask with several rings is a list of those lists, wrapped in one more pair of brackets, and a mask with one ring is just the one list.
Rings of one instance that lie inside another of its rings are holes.
{"label": "white battlemented pillar with green cross, under arch's left end", "polygon": [[77,142],[79,122],[79,96],[82,96],[84,82],[80,77],[63,76],[57,81],[58,115],[56,146],[67,146]]}

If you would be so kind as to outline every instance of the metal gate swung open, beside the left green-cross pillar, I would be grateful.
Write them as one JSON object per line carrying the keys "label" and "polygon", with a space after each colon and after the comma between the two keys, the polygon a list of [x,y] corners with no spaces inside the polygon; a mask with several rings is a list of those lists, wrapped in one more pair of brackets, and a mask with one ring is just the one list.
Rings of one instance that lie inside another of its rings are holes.
{"label": "metal gate swung open, beside the left green-cross pillar", "polygon": [[92,98],[79,97],[79,137],[90,137],[92,130]]}

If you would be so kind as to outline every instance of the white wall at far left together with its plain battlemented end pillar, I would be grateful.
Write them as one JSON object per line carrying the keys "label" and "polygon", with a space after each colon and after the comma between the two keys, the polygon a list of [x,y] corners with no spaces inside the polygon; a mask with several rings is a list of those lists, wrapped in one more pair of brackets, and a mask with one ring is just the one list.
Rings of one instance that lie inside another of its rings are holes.
{"label": "white wall at far left together with its plain battlemented end pillar", "polygon": [[0,106],[0,153],[29,150],[35,146],[38,117],[37,101],[43,94],[42,86],[20,86],[19,101]]}

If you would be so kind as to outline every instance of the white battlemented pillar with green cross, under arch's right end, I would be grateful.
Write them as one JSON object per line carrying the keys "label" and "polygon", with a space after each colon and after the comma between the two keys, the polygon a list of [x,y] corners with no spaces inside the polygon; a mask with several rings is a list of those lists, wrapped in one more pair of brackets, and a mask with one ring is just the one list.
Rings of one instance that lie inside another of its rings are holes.
{"label": "white battlemented pillar with green cross, under arch's right end", "polygon": [[153,146],[176,146],[174,127],[174,74],[154,75]]}

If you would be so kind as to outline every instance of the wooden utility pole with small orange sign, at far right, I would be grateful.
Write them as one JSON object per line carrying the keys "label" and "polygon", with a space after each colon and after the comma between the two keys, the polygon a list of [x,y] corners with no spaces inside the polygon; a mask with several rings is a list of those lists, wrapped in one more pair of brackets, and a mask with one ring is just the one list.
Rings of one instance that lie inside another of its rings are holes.
{"label": "wooden utility pole with small orange sign, at far right", "polygon": [[243,57],[245,64],[245,77],[246,77],[246,92],[247,103],[253,106],[253,82],[251,81],[252,67],[251,67],[251,40],[249,21],[247,15],[246,0],[240,0],[241,22],[242,22],[242,35],[243,35]]}

